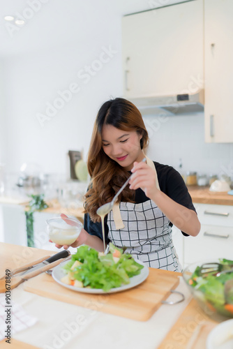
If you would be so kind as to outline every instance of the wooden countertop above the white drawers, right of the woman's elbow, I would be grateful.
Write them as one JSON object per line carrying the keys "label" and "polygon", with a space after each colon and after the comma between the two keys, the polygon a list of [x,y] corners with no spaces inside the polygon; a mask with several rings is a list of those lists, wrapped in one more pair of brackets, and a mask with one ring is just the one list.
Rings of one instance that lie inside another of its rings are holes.
{"label": "wooden countertop above the white drawers, right of the woman's elbow", "polygon": [[199,204],[233,206],[233,195],[209,191],[209,186],[188,186],[188,192],[190,193],[193,202]]}

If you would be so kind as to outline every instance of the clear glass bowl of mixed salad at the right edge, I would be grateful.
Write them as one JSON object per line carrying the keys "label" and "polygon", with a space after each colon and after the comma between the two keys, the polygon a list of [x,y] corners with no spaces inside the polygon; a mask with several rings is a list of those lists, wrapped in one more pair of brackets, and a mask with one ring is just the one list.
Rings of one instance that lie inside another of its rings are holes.
{"label": "clear glass bowl of mixed salad at the right edge", "polygon": [[183,279],[209,317],[233,318],[233,260],[220,258],[193,263],[183,270]]}

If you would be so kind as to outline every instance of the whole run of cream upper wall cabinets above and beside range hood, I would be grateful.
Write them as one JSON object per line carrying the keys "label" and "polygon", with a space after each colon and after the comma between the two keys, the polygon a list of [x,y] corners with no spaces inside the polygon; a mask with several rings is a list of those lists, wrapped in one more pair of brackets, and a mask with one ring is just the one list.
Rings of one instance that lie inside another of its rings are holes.
{"label": "whole run of cream upper wall cabinets above and beside range hood", "polygon": [[233,0],[193,0],[122,20],[123,95],[204,89],[206,142],[233,142]]}

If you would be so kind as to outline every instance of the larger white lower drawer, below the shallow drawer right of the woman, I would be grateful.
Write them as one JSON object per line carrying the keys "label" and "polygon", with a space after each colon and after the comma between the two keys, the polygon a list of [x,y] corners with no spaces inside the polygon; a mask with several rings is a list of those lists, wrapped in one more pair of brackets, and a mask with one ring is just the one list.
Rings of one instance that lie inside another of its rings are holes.
{"label": "larger white lower drawer, below the shallow drawer right of the woman", "polygon": [[198,260],[228,258],[233,260],[233,227],[202,225],[197,237],[185,237],[184,265]]}

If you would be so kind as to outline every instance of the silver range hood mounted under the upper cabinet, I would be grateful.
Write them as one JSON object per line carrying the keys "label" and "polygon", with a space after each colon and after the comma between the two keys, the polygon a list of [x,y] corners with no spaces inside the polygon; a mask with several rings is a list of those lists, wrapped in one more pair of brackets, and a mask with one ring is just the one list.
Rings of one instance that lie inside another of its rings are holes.
{"label": "silver range hood mounted under the upper cabinet", "polygon": [[165,110],[169,114],[190,114],[204,111],[204,89],[195,94],[176,94],[167,96],[146,96],[128,98],[140,112],[145,114],[158,114]]}

